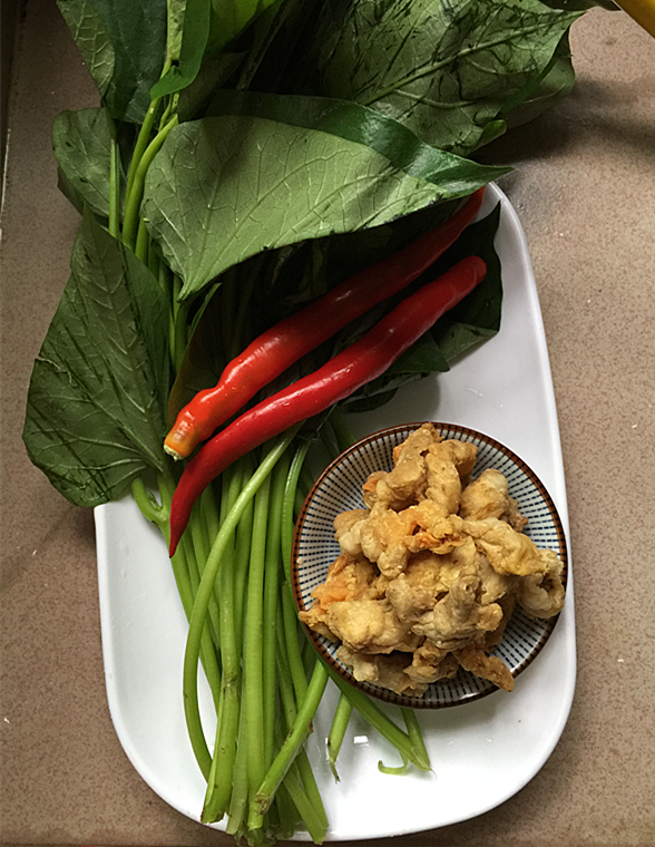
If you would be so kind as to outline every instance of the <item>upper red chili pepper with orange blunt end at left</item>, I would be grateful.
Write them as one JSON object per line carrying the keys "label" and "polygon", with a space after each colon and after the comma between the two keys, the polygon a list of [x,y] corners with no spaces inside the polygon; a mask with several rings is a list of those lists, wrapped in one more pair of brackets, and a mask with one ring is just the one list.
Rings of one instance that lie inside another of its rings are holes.
{"label": "upper red chili pepper with orange blunt end at left", "polygon": [[214,388],[199,391],[182,409],[166,436],[165,450],[176,459],[189,456],[197,444],[301,357],[413,282],[457,241],[480,208],[483,193],[485,188],[479,188],[437,230],[351,276],[256,338],[226,366]]}

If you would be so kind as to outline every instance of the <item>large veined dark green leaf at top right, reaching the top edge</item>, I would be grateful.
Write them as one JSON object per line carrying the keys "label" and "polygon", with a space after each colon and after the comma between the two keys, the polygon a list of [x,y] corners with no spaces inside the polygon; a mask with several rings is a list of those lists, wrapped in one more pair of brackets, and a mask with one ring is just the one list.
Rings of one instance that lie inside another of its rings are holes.
{"label": "large veined dark green leaf at top right, reaching the top edge", "polygon": [[316,35],[321,94],[467,155],[504,104],[540,80],[579,14],[539,0],[332,0]]}

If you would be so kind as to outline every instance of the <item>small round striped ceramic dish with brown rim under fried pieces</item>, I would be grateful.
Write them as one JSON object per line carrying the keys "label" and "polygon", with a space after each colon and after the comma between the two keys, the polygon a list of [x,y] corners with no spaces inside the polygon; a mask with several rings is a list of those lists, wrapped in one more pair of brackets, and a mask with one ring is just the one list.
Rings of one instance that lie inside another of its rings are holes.
{"label": "small round striped ceramic dish with brown rim under fried pieces", "polygon": [[[295,527],[292,553],[292,584],[299,611],[311,607],[312,592],[325,580],[328,567],[340,554],[334,538],[334,517],[341,512],[363,508],[362,484],[374,470],[391,470],[393,448],[402,444],[421,424],[407,424],[370,435],[339,456],[321,474],[302,507]],[[537,475],[508,447],[467,427],[434,424],[441,436],[472,441],[478,447],[473,477],[486,468],[500,470],[508,480],[509,494],[528,518],[525,533],[540,548],[554,549],[564,563],[566,584],[567,547],[563,524],[548,491]],[[492,651],[518,676],[548,641],[557,617],[532,620],[518,606],[500,644]],[[399,705],[439,709],[478,700],[498,689],[490,682],[460,669],[452,680],[432,683],[421,697],[395,694],[369,682],[358,682],[351,670],[336,658],[339,644],[306,629],[309,637],[330,665],[368,694]],[[511,697],[511,694],[509,694]]]}

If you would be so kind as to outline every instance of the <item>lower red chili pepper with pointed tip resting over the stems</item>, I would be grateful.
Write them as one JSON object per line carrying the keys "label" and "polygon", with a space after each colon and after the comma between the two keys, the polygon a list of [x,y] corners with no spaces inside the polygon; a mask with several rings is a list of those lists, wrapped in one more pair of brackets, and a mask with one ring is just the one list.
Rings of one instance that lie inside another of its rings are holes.
{"label": "lower red chili pepper with pointed tip resting over the stems", "polygon": [[486,272],[487,266],[478,256],[463,259],[403,300],[359,341],[314,373],[263,400],[207,441],[184,469],[173,495],[170,555],[188,523],[193,504],[225,468],[384,373],[444,312],[470,293]]}

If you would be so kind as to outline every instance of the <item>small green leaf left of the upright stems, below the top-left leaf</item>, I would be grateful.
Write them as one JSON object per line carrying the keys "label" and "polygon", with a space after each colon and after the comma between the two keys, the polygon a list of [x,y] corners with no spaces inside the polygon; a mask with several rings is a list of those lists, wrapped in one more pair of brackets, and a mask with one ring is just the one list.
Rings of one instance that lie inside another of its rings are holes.
{"label": "small green leaf left of the upright stems, below the top-left leaf", "polygon": [[[111,126],[104,108],[61,111],[52,124],[52,147],[66,194],[78,208],[109,214]],[[72,196],[71,196],[72,194]]]}

